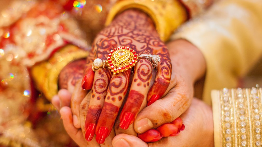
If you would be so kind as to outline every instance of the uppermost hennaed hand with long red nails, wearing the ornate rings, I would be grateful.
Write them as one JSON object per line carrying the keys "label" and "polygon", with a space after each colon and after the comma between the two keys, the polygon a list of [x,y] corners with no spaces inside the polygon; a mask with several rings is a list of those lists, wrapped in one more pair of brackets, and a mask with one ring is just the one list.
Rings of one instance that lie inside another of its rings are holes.
{"label": "uppermost hennaed hand with long red nails, wearing the ornate rings", "polygon": [[127,129],[134,122],[143,100],[148,100],[150,104],[160,99],[170,83],[172,66],[169,53],[149,16],[139,10],[127,10],[118,15],[111,25],[96,37],[82,81],[83,89],[92,88],[85,122],[85,137],[91,141],[96,134],[96,140],[100,144],[105,141],[114,125],[128,91],[131,71],[112,76],[109,69],[100,68],[94,73],[92,62],[94,58],[106,60],[110,50],[117,46],[132,48],[138,55],[156,54],[161,58],[151,88],[149,86],[153,72],[151,62],[139,59],[135,65],[130,92],[120,115],[121,128]]}

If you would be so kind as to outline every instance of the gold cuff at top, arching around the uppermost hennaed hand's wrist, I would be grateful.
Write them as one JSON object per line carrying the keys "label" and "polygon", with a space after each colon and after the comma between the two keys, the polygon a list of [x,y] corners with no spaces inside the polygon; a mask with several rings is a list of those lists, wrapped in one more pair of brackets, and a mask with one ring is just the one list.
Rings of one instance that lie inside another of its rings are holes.
{"label": "gold cuff at top, arching around the uppermost hennaed hand's wrist", "polygon": [[118,13],[130,8],[140,9],[152,18],[162,41],[167,41],[174,30],[188,18],[186,9],[177,0],[123,0],[111,8],[105,25],[109,25]]}

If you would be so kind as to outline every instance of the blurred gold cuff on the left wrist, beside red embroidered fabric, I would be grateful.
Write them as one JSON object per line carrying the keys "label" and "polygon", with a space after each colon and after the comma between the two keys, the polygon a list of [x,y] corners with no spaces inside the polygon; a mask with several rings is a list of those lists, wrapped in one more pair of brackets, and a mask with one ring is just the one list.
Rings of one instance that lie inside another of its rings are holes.
{"label": "blurred gold cuff on the left wrist, beside red embroidered fabric", "polygon": [[51,101],[58,92],[58,76],[63,67],[74,60],[85,58],[88,54],[89,52],[77,46],[67,45],[54,53],[48,61],[34,65],[31,74],[37,89]]}

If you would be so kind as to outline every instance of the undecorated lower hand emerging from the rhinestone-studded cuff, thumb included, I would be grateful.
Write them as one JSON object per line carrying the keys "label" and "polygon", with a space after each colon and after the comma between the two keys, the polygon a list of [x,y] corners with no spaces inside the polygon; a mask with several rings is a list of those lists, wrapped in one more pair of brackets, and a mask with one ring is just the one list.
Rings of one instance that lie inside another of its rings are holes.
{"label": "undecorated lower hand emerging from the rhinestone-studded cuff, thumb included", "polygon": [[146,144],[138,137],[118,134],[112,143],[114,147],[171,147],[171,146],[214,146],[212,109],[203,101],[194,98],[189,108],[180,116],[186,129],[175,137],[166,137],[158,142]]}

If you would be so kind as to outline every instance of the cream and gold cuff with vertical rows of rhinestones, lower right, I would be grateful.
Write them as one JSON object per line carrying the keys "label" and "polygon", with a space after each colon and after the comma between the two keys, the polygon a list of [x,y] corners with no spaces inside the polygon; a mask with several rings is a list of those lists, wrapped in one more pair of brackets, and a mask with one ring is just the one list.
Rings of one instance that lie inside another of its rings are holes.
{"label": "cream and gold cuff with vertical rows of rhinestones, lower right", "polygon": [[212,91],[215,146],[261,146],[262,89]]}

